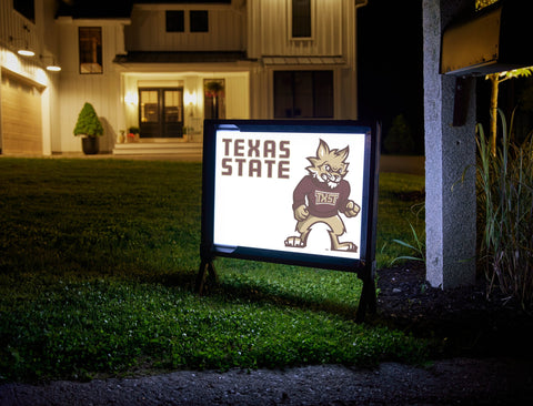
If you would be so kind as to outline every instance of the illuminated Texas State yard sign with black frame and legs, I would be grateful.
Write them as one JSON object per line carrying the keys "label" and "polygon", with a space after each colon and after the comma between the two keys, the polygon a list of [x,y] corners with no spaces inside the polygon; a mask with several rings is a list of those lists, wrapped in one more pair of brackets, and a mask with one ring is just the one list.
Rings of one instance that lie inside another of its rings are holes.
{"label": "illuminated Texas State yard sign with black frame and legs", "polygon": [[207,120],[199,291],[215,256],[356,272],[364,317],[379,136],[355,121]]}

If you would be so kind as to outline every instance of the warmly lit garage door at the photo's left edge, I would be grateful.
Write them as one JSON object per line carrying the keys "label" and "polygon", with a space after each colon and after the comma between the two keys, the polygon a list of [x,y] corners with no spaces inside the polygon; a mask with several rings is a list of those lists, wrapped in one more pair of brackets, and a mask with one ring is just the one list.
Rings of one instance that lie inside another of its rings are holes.
{"label": "warmly lit garage door at the photo's left edge", "polygon": [[41,92],[2,71],[0,90],[3,154],[42,154]]}

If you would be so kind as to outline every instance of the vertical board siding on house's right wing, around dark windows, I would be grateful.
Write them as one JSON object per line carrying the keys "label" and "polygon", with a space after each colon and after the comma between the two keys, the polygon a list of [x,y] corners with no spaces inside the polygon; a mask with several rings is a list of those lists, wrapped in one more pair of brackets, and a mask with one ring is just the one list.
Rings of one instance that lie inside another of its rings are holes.
{"label": "vertical board siding on house's right wing, around dark windows", "polygon": [[[311,0],[311,4],[312,37],[293,39],[289,23],[291,0],[248,2],[251,22],[248,26],[248,55],[262,61],[251,74],[253,118],[273,118],[275,71],[330,70],[334,77],[333,119],[358,119],[355,3],[351,0]],[[281,62],[269,62],[274,59]]]}

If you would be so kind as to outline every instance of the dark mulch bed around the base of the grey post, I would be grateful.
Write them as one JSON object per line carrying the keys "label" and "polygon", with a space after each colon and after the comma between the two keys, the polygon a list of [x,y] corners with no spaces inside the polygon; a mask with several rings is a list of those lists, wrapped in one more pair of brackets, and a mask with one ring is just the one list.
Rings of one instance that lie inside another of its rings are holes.
{"label": "dark mulch bed around the base of the grey post", "polygon": [[378,275],[376,321],[434,339],[434,357],[533,357],[533,315],[501,293],[487,300],[484,280],[475,286],[433,288],[418,262]]}

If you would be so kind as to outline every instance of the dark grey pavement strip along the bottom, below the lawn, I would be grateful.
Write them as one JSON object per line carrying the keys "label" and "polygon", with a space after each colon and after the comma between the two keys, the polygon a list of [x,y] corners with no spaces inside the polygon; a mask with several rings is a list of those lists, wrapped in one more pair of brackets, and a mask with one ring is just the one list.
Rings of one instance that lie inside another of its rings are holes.
{"label": "dark grey pavement strip along the bottom, below the lawn", "polygon": [[524,361],[455,358],[283,371],[174,372],[130,379],[0,386],[0,405],[533,405]]}

